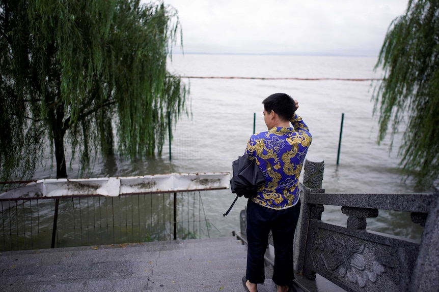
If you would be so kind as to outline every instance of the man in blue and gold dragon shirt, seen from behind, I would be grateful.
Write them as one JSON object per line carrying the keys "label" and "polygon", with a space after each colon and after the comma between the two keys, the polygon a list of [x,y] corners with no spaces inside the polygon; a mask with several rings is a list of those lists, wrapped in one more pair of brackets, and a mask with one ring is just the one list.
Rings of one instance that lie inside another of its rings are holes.
{"label": "man in blue and gold dragon shirt, seen from behind", "polygon": [[[263,283],[264,254],[271,230],[275,247],[273,282],[278,292],[288,290],[293,274],[293,239],[300,212],[299,175],[312,136],[295,114],[298,103],[285,93],[263,102],[268,131],[253,135],[245,153],[256,159],[266,183],[247,203],[247,270],[242,278],[246,291]],[[290,122],[293,127],[290,126]]]}

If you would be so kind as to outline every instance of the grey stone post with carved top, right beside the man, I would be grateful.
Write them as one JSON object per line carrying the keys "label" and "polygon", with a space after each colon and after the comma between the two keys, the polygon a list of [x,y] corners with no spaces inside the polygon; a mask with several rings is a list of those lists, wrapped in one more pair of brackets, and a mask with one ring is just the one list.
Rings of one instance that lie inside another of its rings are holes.
{"label": "grey stone post with carved top, right beside the man", "polygon": [[[294,271],[303,275],[305,249],[308,238],[308,224],[310,219],[320,219],[323,206],[309,205],[308,196],[312,192],[324,192],[322,188],[324,161],[310,161],[305,159],[304,179],[300,185],[300,216],[297,222],[296,235],[294,237]],[[312,277],[312,276],[311,276]]]}

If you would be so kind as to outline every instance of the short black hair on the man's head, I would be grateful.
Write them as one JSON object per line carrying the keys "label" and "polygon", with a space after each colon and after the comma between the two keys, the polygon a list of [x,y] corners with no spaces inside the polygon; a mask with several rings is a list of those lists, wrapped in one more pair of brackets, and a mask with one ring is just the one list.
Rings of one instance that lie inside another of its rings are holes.
{"label": "short black hair on the man's head", "polygon": [[290,95],[285,93],[271,94],[263,100],[264,109],[267,113],[271,111],[285,121],[290,121],[296,111],[296,104]]}

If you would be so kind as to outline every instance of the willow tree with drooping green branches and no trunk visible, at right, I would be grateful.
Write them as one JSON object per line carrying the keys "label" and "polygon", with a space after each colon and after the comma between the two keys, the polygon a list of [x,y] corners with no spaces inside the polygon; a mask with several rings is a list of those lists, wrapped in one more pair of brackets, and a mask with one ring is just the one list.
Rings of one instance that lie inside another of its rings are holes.
{"label": "willow tree with drooping green branches and no trunk visible, at right", "polygon": [[[389,27],[375,68],[383,81],[375,91],[379,141],[404,131],[398,154],[418,187],[439,178],[439,2],[410,0]],[[391,126],[391,130],[389,130]],[[401,130],[403,128],[403,130]]]}

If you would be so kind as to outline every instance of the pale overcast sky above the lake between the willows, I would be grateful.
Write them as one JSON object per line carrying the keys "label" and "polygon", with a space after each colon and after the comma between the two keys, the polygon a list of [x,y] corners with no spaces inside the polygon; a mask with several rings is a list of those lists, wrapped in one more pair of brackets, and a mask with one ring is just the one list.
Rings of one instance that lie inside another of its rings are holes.
{"label": "pale overcast sky above the lake between the willows", "polygon": [[[367,55],[408,0],[165,0],[184,53]],[[181,52],[179,46],[173,53]]]}

